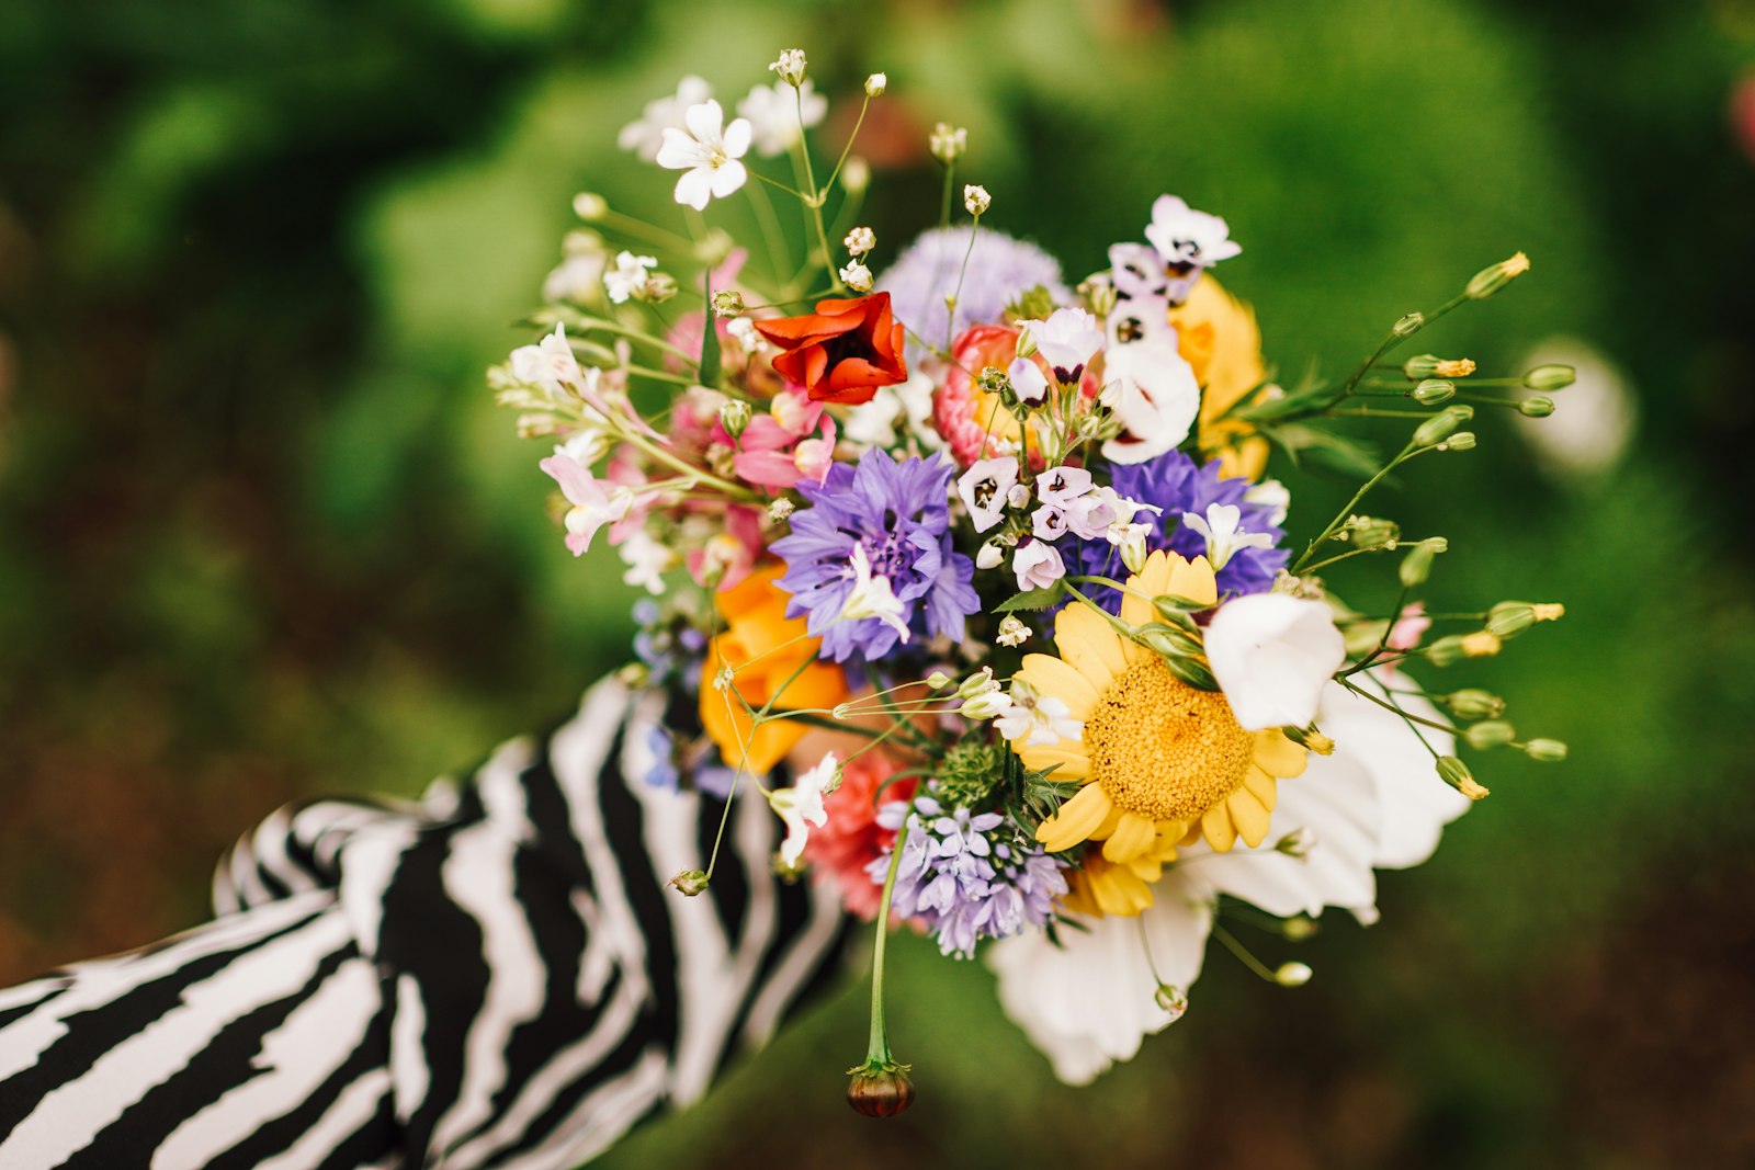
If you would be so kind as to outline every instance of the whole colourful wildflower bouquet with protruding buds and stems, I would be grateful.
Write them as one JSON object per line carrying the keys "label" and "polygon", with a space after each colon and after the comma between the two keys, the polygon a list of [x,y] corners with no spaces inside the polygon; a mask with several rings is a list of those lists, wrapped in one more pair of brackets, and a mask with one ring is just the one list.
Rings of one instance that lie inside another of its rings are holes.
{"label": "whole colourful wildflower bouquet with protruding buds and stems", "polygon": [[[1418,865],[1486,796],[1458,746],[1564,758],[1499,696],[1422,681],[1562,607],[1423,612],[1446,540],[1362,507],[1406,463],[1472,449],[1478,409],[1550,414],[1572,374],[1392,356],[1522,275],[1516,254],[1344,377],[1283,388],[1213,275],[1241,253],[1225,219],[1164,195],[1069,281],[986,225],[985,188],[953,203],[967,133],[948,125],[939,225],[886,258],[851,139],[818,179],[804,53],[770,70],[730,121],[688,77],[621,132],[677,172],[684,232],[581,195],[544,335],[490,381],[553,444],[567,547],[607,540],[651,595],[637,672],[674,696],[656,779],[755,788],[786,824],[776,865],[878,919],[853,1105],[913,1096],[883,1016],[890,926],[985,952],[1007,1014],[1090,1081],[1185,1012],[1209,937],[1307,981],[1227,919],[1283,942],[1327,907],[1372,921],[1374,870]],[[709,226],[734,196],[760,247]],[[1395,453],[1341,430],[1358,417]],[[1274,451],[1358,491],[1295,537]],[[1383,581],[1343,600],[1322,574],[1353,560]]]}

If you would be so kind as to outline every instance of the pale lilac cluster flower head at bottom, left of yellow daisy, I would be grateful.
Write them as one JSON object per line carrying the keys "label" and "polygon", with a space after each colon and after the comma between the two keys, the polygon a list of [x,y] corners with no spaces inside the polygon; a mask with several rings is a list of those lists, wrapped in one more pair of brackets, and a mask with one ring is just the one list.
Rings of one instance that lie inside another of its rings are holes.
{"label": "pale lilac cluster flower head at bottom, left of yellow daisy", "polygon": [[[1020,844],[999,812],[946,812],[935,796],[916,796],[886,803],[878,823],[902,831],[890,912],[920,921],[944,954],[967,960],[978,938],[1042,926],[1067,891],[1064,867],[1034,844]],[[872,860],[865,872],[881,886],[890,856]]]}

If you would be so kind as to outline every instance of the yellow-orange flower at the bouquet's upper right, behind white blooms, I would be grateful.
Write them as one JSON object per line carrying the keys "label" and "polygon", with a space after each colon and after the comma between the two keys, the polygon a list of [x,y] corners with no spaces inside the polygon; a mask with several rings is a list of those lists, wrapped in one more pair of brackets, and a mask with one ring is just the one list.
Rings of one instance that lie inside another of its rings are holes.
{"label": "yellow-orange flower at the bouquet's upper right, behind white blooms", "polygon": [[1227,293],[1209,272],[1195,284],[1188,303],[1171,309],[1171,325],[1176,326],[1176,347],[1200,382],[1200,453],[1223,460],[1227,475],[1260,479],[1267,440],[1241,419],[1220,417],[1267,377],[1255,310]]}

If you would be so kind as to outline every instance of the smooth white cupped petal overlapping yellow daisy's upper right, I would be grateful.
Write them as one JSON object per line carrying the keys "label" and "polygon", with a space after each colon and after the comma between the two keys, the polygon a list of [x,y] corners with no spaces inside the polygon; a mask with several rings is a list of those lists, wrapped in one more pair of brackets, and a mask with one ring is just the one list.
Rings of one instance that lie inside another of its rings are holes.
{"label": "smooth white cupped petal overlapping yellow daisy's upper right", "polygon": [[1325,602],[1251,593],[1218,607],[1206,631],[1207,663],[1246,731],[1304,726],[1346,642]]}

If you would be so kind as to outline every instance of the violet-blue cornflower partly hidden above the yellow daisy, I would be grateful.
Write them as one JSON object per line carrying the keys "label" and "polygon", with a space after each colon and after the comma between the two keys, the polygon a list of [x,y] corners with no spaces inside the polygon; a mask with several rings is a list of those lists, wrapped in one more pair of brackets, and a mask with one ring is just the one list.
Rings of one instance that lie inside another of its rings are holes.
{"label": "violet-blue cornflower partly hidden above the yellow daisy", "polygon": [[[1248,503],[1244,493],[1253,484],[1248,479],[1221,479],[1218,460],[1199,467],[1181,451],[1167,451],[1132,467],[1116,463],[1109,482],[1128,500],[1164,509],[1153,533],[1146,537],[1146,546],[1151,549],[1171,549],[1188,560],[1206,554],[1206,537],[1183,523],[1183,512],[1206,516],[1209,503],[1234,505],[1239,510],[1239,531],[1265,531],[1274,539],[1274,544],[1286,539],[1285,530],[1274,524],[1274,505]],[[1151,519],[1151,514],[1141,512],[1135,519]],[[1072,558],[1078,560],[1079,572],[1116,581],[1127,577],[1121,551],[1113,544],[1079,540],[1074,544]],[[1285,549],[1237,549],[1218,570],[1220,596],[1267,593],[1274,584],[1274,575],[1286,567],[1288,560],[1290,554]],[[1113,589],[1100,589],[1097,600],[1109,612],[1118,612],[1121,607],[1121,595]]]}

